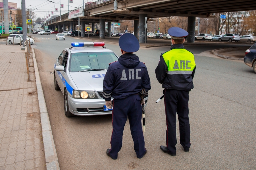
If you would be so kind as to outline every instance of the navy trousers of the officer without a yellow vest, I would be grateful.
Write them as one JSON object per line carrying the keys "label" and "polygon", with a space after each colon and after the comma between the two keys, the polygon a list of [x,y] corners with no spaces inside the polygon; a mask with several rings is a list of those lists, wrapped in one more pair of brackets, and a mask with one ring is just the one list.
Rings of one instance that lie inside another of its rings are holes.
{"label": "navy trousers of the officer without a yellow vest", "polygon": [[140,104],[141,98],[139,95],[130,95],[126,99],[114,99],[112,111],[112,136],[111,149],[109,154],[113,158],[117,158],[117,153],[121,150],[124,126],[127,117],[130,123],[130,130],[134,142],[134,150],[138,158],[143,157],[145,153],[145,141],[143,137],[141,118],[142,107]]}

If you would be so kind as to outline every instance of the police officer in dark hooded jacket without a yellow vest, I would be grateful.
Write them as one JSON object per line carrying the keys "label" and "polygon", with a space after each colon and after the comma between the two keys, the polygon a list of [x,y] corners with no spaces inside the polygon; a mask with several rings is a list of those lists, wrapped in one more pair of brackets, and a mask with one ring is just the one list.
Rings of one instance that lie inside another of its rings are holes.
{"label": "police officer in dark hooded jacket without a yellow vest", "polygon": [[[141,124],[141,98],[138,94],[145,89],[146,95],[148,95],[148,91],[151,89],[150,78],[147,67],[140,62],[138,56],[133,54],[140,48],[137,38],[126,33],[120,37],[119,46],[122,55],[118,61],[109,65],[103,81],[103,99],[106,101],[106,107],[111,108],[113,105],[111,149],[107,149],[106,153],[112,159],[117,159],[117,153],[122,147],[124,126],[128,118],[135,153],[137,158],[142,158],[147,150]],[[113,101],[111,101],[111,97]]]}

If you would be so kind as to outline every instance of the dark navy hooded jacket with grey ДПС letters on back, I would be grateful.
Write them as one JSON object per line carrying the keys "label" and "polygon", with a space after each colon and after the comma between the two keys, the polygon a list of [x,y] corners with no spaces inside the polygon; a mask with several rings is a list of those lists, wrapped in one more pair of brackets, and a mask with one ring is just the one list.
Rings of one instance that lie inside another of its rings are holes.
{"label": "dark navy hooded jacket with grey \u0414\u041f\u0421 letters on back", "polygon": [[126,53],[109,65],[103,81],[103,99],[126,99],[143,88],[147,94],[151,89],[147,67],[138,56]]}

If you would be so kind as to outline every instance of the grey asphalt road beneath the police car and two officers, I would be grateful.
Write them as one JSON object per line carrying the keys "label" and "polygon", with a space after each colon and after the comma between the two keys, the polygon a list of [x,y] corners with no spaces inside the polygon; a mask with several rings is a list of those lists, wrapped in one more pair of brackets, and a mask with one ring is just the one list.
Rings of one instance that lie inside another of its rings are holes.
{"label": "grey asphalt road beneath the police car and two officers", "polygon": [[[154,73],[160,54],[169,47],[137,51],[136,55],[148,68],[152,87],[145,108],[144,138],[148,153],[142,159],[136,158],[127,121],[122,149],[118,159],[112,160],[106,155],[106,149],[110,148],[112,116],[67,118],[62,92],[54,90],[54,76],[50,71],[53,71],[55,58],[64,48],[70,47],[70,42],[80,40],[66,36],[65,41],[56,41],[55,35],[34,37],[36,43],[33,46],[36,46],[36,59],[61,169],[256,169],[256,74],[242,61],[195,56],[197,68],[189,100],[191,148],[189,153],[183,151],[177,124],[177,155],[171,157],[159,148],[166,145],[166,120],[164,102],[155,103],[163,88]],[[121,55],[117,44],[105,46]],[[199,53],[219,46],[185,48]]]}

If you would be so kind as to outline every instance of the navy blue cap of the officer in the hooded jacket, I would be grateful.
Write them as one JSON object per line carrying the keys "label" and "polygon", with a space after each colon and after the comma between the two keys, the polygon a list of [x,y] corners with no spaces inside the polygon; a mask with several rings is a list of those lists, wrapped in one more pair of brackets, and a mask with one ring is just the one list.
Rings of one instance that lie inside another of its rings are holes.
{"label": "navy blue cap of the officer in the hooded jacket", "polygon": [[125,52],[136,52],[140,49],[138,39],[131,33],[125,33],[119,38],[119,46]]}

